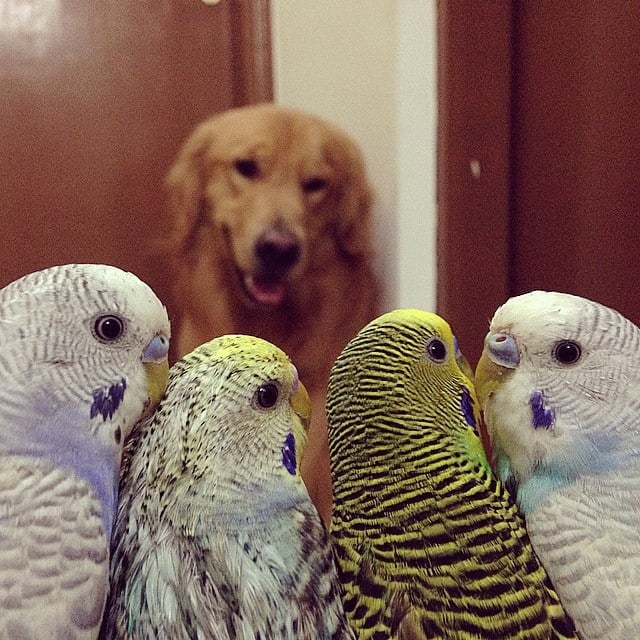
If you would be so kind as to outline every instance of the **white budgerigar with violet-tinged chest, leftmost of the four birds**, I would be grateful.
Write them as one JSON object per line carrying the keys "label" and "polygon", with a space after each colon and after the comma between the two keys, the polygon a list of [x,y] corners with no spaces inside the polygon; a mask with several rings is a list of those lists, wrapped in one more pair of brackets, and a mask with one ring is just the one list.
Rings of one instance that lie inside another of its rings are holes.
{"label": "white budgerigar with violet-tinged chest, leftmost of the four birds", "polygon": [[0,291],[0,638],[90,640],[125,438],[167,383],[169,321],[111,266]]}

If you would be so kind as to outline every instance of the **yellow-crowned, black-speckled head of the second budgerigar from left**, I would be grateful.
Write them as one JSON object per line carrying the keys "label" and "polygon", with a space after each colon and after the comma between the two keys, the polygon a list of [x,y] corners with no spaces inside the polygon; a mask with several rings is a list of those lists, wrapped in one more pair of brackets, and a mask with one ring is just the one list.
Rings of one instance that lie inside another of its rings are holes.
{"label": "yellow-crowned, black-speckled head of the second budgerigar from left", "polygon": [[204,490],[229,477],[229,468],[251,474],[256,486],[299,479],[309,418],[306,389],[282,350],[254,336],[215,338],[171,369],[150,425],[161,441],[158,473],[180,469],[202,479]]}

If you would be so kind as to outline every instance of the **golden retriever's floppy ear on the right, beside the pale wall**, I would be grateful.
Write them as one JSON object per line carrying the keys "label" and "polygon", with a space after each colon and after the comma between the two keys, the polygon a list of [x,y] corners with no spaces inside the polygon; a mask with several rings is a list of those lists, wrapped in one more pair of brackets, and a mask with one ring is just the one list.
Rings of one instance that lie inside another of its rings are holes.
{"label": "golden retriever's floppy ear on the right, beside the pale wall", "polygon": [[359,148],[351,140],[344,140],[341,147],[342,158],[338,164],[342,184],[336,211],[338,246],[350,258],[368,258],[373,189]]}

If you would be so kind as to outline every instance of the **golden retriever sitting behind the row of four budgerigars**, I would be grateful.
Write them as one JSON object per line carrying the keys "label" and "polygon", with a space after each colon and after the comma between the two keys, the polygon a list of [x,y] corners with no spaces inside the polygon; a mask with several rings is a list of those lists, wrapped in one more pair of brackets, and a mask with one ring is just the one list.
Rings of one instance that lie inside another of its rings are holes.
{"label": "golden retriever sitting behind the row of four budgerigars", "polygon": [[175,355],[225,333],[289,355],[312,400],[302,475],[328,521],[328,375],[379,311],[361,152],[324,120],[259,104],[200,124],[166,183]]}

